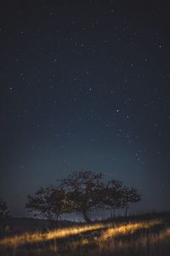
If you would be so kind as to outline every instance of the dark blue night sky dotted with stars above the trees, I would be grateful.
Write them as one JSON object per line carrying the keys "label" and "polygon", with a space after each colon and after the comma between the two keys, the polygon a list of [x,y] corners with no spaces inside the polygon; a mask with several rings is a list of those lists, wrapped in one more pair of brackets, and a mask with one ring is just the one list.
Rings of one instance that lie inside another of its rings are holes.
{"label": "dark blue night sky dotted with stars above the trees", "polygon": [[6,1],[0,8],[0,196],[81,170],[170,210],[170,14],[161,1]]}

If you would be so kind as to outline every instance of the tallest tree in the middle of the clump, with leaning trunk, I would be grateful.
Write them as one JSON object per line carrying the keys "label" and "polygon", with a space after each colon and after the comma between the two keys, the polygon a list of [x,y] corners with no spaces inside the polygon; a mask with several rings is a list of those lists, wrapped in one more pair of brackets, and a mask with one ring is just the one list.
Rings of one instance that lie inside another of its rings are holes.
{"label": "tallest tree in the middle of the clump, with leaning trunk", "polygon": [[61,180],[61,188],[68,195],[72,212],[81,212],[84,220],[90,222],[88,212],[102,207],[100,196],[104,184],[102,175],[91,171],[73,172]]}

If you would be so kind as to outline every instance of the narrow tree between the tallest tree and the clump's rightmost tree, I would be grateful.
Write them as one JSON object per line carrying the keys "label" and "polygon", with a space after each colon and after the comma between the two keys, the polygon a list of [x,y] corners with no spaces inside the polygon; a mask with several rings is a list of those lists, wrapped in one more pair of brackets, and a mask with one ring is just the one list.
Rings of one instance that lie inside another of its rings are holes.
{"label": "narrow tree between the tallest tree and the clump's rightmost tree", "polygon": [[[115,218],[116,209],[122,207],[122,182],[111,179],[105,186],[104,204],[111,210],[111,218]],[[113,214],[112,214],[113,213]]]}

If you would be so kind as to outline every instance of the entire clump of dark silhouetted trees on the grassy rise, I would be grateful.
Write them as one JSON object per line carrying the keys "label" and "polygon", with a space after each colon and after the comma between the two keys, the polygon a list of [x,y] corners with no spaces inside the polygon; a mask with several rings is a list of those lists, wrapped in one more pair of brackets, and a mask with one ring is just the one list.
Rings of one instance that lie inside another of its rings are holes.
{"label": "entire clump of dark silhouetted trees on the grassy rise", "polygon": [[122,182],[111,180],[104,183],[101,173],[91,171],[73,172],[59,180],[58,186],[37,190],[34,196],[28,195],[26,207],[56,222],[64,213],[81,212],[86,222],[91,222],[88,212],[96,209],[127,209],[131,203],[141,200],[137,189],[128,188]]}

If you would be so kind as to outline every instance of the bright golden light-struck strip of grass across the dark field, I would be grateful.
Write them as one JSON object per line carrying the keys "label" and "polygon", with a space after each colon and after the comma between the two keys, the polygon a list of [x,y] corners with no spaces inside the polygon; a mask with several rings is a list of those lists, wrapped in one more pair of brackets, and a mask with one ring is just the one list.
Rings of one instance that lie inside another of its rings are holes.
{"label": "bright golden light-struck strip of grass across the dark field", "polygon": [[92,235],[91,238],[82,238],[80,241],[77,241],[77,244],[79,243],[80,245],[86,245],[92,241],[95,241],[97,243],[103,243],[104,241],[107,241],[114,236],[132,234],[136,230],[149,229],[151,226],[154,226],[156,224],[161,224],[161,221],[152,220],[150,222],[137,222],[117,226],[114,226],[114,224],[90,224],[48,231],[47,233],[24,233],[20,236],[4,238],[0,240],[0,245],[19,247],[20,245],[28,243],[67,238],[69,236],[81,235],[85,232],[95,230],[100,230],[98,237]]}

